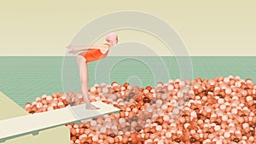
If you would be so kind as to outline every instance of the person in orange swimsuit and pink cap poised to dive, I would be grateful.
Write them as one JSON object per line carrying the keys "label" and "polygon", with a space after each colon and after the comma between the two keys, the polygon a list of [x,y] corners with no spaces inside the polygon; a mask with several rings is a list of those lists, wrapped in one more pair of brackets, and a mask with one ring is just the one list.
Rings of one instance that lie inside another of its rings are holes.
{"label": "person in orange swimsuit and pink cap poised to dive", "polygon": [[67,49],[71,49],[69,51],[70,54],[77,54],[77,63],[79,66],[79,74],[82,86],[82,92],[84,95],[84,101],[87,109],[99,109],[92,105],[88,98],[88,67],[87,62],[101,60],[107,57],[109,48],[111,48],[114,44],[118,43],[118,36],[116,33],[111,32],[106,36],[106,41],[108,43],[104,43],[102,45],[69,45]]}

